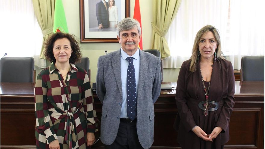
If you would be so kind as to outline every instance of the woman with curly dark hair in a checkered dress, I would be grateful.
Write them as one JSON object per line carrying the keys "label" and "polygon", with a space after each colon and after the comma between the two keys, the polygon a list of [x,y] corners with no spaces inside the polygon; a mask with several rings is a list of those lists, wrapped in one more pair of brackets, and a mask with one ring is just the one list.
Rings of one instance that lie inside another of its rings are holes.
{"label": "woman with curly dark hair in a checkered dress", "polygon": [[79,42],[58,32],[44,45],[52,64],[35,85],[36,146],[85,149],[95,142],[97,117],[87,73],[74,65],[81,58]]}

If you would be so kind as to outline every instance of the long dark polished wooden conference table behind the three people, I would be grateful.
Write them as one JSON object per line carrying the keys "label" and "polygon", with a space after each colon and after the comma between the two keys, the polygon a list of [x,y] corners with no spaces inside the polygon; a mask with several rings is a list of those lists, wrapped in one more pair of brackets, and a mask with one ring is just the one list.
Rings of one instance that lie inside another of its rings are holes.
{"label": "long dark polished wooden conference table behind the three people", "polygon": [[[176,141],[173,123],[177,115],[176,82],[172,90],[161,90],[154,104],[154,143],[151,148],[181,147]],[[1,148],[33,149],[35,144],[34,83],[1,82]],[[102,104],[93,94],[97,116],[101,118]],[[229,149],[263,149],[264,144],[264,81],[236,81],[235,106],[230,120]],[[97,132],[99,136],[99,132]],[[104,148],[98,141],[92,148]]]}

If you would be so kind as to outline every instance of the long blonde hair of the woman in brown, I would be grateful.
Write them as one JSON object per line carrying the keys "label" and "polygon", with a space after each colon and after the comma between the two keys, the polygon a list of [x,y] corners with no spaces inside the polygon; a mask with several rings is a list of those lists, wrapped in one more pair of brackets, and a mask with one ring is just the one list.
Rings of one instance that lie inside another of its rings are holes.
{"label": "long blonde hair of the woman in brown", "polygon": [[196,34],[196,37],[194,39],[194,44],[193,44],[193,48],[192,48],[192,56],[190,57],[191,64],[189,67],[189,71],[191,71],[191,72],[196,71],[197,65],[199,63],[199,61],[197,60],[197,57],[198,57],[199,42],[200,42],[201,36],[203,36],[205,33],[209,32],[209,31],[214,34],[214,38],[217,42],[217,48],[216,48],[216,56],[217,57],[216,58],[217,59],[225,59],[222,56],[221,42],[220,42],[220,36],[219,36],[218,29],[216,29],[214,26],[206,25],[198,31],[198,33]]}

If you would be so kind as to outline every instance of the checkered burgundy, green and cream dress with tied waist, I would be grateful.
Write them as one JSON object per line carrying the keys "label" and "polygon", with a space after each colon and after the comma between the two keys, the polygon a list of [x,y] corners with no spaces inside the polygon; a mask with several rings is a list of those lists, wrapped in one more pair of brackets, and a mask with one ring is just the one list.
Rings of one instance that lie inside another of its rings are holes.
{"label": "checkered burgundy, green and cream dress with tied waist", "polygon": [[85,70],[71,64],[66,81],[55,65],[39,73],[35,86],[36,146],[86,148],[86,133],[95,132],[96,111]]}

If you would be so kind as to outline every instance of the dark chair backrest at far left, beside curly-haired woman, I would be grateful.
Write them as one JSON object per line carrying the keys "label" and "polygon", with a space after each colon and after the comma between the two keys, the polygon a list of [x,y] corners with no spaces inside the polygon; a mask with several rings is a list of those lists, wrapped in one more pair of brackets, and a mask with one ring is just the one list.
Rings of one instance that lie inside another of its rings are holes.
{"label": "dark chair backrest at far left, beside curly-haired woman", "polygon": [[32,57],[3,57],[1,82],[35,82]]}

